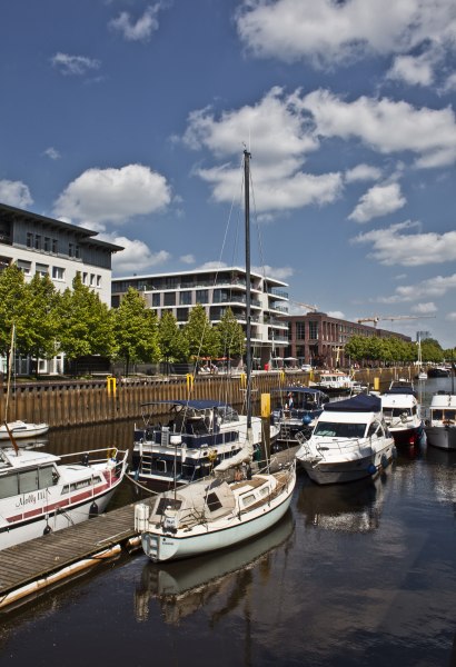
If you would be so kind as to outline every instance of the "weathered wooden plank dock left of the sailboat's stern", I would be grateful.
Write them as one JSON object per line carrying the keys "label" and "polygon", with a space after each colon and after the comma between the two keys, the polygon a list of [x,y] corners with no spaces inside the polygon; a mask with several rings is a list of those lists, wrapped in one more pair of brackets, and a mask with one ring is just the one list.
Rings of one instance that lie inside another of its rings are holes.
{"label": "weathered wooden plank dock left of the sailboat's stern", "polygon": [[[147,500],[141,500],[147,502]],[[135,549],[135,504],[0,551],[0,609]]]}

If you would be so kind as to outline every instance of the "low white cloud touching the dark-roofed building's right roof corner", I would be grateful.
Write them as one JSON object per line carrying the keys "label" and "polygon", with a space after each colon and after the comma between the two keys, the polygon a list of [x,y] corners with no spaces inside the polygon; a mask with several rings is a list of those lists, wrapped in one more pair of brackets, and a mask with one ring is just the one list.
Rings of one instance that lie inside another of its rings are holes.
{"label": "low white cloud touching the dark-roofed building's right roof corner", "polygon": [[166,250],[151,252],[148,246],[138,239],[132,240],[115,233],[101,233],[98,238],[125,248],[112,255],[112,270],[118,275],[155,269],[166,263],[171,257]]}

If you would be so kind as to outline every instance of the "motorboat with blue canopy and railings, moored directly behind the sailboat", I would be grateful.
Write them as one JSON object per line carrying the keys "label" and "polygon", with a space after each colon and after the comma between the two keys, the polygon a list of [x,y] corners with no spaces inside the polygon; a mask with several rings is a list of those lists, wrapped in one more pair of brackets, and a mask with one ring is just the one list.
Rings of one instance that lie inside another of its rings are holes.
{"label": "motorboat with blue canopy and railings, moored directly behind the sailboat", "polygon": [[[129,475],[137,480],[182,486],[207,477],[221,461],[241,451],[247,417],[218,400],[169,400],[141,406],[141,426],[135,425]],[[169,420],[161,424],[160,411]],[[278,426],[270,427],[274,442]],[[251,418],[254,450],[262,439],[260,417]]]}

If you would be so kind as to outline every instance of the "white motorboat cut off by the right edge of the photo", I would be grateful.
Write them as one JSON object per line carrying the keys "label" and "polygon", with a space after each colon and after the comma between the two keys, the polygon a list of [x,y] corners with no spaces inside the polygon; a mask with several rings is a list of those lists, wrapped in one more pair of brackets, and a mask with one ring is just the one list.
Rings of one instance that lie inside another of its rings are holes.
{"label": "white motorboat cut off by the right edge of the photo", "polygon": [[430,399],[429,419],[425,422],[428,445],[456,449],[456,395],[437,391]]}

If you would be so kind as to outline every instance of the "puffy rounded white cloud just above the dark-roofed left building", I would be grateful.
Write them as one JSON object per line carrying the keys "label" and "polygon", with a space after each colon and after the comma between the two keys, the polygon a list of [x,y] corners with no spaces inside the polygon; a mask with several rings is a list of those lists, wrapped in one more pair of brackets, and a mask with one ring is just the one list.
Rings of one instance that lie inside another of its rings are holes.
{"label": "puffy rounded white cloud just above the dark-roofed left building", "polygon": [[170,200],[166,178],[148,167],[93,168],[67,186],[54,203],[54,215],[100,229],[106,222],[121,225],[133,216],[161,211]]}

